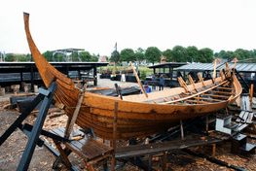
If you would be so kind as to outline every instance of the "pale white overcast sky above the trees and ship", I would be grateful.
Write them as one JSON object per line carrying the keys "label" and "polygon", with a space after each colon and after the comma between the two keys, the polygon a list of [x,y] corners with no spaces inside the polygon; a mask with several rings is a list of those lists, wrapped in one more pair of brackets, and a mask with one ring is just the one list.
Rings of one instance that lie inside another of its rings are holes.
{"label": "pale white overcast sky above the trees and ship", "polygon": [[0,51],[29,52],[22,13],[39,50],[81,48],[110,55],[176,45],[256,49],[255,0],[2,0]]}

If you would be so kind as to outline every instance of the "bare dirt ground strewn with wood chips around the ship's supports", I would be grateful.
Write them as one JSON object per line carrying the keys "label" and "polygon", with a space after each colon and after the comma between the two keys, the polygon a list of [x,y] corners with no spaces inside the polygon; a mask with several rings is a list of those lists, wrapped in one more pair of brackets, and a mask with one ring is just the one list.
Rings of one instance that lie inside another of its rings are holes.
{"label": "bare dirt ground strewn with wood chips around the ship's supports", "polygon": [[[16,110],[5,110],[3,109],[5,105],[9,102],[6,100],[0,100],[0,135],[10,126],[14,120],[18,118],[18,111]],[[50,114],[45,121],[44,128],[47,130],[54,129],[56,127],[64,126],[66,122],[66,117],[61,115],[54,119],[50,119],[54,112],[50,111]],[[33,122],[35,120],[35,115],[31,115],[26,121]],[[51,140],[47,139],[50,143]],[[8,140],[0,146],[0,171],[13,171],[18,167],[18,162],[23,153],[24,147],[26,145],[27,138],[20,131],[16,130]],[[194,152],[200,152],[204,154],[211,154],[211,148],[193,148]],[[223,143],[217,145],[216,158],[226,161],[230,164],[243,167],[246,170],[256,170],[256,154],[250,156],[238,156],[230,153],[230,144]],[[71,155],[70,158],[73,164],[79,165],[81,170],[86,170],[76,155]],[[51,154],[45,147],[36,147],[33,154],[32,160],[29,165],[29,170],[53,170],[52,165],[55,161],[54,154]],[[161,158],[156,156],[153,157],[153,165],[156,169],[161,170]],[[172,151],[167,155],[167,166],[168,170],[178,170],[178,171],[194,171],[194,170],[232,170],[224,166],[217,165],[215,163],[209,162],[204,158],[197,157],[184,153],[182,151]],[[99,166],[96,166],[96,170],[101,170]],[[60,170],[66,170],[64,167]],[[130,163],[127,163],[124,167],[119,170],[140,170]]]}

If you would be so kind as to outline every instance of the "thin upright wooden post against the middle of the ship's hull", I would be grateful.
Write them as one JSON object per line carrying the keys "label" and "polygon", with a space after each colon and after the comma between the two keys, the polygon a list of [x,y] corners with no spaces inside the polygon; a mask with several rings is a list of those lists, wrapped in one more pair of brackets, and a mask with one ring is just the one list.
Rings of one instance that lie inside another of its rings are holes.
{"label": "thin upright wooden post against the middle of the ship's hull", "polygon": [[117,149],[117,124],[118,124],[118,102],[115,102],[114,120],[113,120],[113,154],[111,160],[111,171],[115,171],[116,167],[116,149]]}

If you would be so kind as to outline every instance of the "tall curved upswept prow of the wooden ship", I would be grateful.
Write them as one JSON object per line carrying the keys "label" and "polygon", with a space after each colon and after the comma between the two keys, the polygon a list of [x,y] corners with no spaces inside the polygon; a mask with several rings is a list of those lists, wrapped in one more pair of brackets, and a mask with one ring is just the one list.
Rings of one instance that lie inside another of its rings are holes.
{"label": "tall curved upswept prow of the wooden ship", "polygon": [[23,13],[23,17],[27,43],[33,56],[33,59],[35,61],[36,67],[45,85],[49,87],[50,84],[56,79],[61,80],[63,83],[67,85],[72,85],[72,81],[68,79],[65,75],[57,71],[55,67],[52,66],[46,60],[45,56],[42,55],[41,52],[37,49],[29,30],[29,14]]}

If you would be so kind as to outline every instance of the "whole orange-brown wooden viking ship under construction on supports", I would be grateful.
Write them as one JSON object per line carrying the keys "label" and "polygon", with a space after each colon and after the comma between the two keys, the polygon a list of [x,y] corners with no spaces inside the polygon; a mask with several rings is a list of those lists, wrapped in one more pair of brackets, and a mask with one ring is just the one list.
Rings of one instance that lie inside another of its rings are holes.
{"label": "whole orange-brown wooden viking ship under construction on supports", "polygon": [[[25,33],[38,71],[46,86],[55,81],[55,102],[62,104],[71,118],[81,91],[71,79],[60,73],[38,51],[29,31],[29,15],[24,14]],[[180,120],[207,115],[224,109],[241,93],[241,85],[230,70],[220,72],[220,77],[190,84],[179,78],[181,87],[165,88],[163,91],[119,97],[104,96],[85,91],[76,123],[82,128],[92,128],[101,138],[113,137],[115,102],[118,102],[118,139],[142,137],[165,130]]]}

